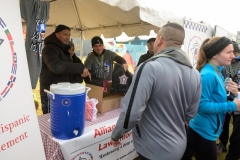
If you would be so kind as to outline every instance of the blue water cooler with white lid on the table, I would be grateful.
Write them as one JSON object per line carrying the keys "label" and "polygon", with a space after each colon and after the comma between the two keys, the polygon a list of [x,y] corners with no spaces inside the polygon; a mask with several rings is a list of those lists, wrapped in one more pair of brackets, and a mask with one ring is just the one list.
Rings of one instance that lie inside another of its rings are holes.
{"label": "blue water cooler with white lid on the table", "polygon": [[58,83],[50,86],[50,123],[57,139],[79,137],[84,132],[86,94],[89,87],[80,83]]}

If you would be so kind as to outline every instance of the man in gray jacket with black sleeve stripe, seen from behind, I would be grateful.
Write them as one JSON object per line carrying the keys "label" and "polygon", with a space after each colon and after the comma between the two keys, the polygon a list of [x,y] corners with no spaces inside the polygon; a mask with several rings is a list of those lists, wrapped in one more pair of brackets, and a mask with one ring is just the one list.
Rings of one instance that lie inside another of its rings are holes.
{"label": "man in gray jacket with black sleeve stripe, seen from behind", "polygon": [[141,159],[181,159],[187,122],[195,116],[201,95],[199,72],[181,50],[184,36],[183,27],[176,23],[158,32],[155,55],[138,67],[121,103],[113,146],[121,145],[119,139],[132,130]]}

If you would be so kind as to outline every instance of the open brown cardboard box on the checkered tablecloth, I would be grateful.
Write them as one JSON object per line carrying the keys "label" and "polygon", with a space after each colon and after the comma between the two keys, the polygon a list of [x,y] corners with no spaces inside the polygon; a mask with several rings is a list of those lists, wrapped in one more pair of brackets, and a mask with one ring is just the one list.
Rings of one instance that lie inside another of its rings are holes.
{"label": "open brown cardboard box on the checkered tablecloth", "polygon": [[111,95],[111,83],[106,83],[108,92],[103,92],[103,87],[86,84],[91,90],[88,92],[89,98],[96,98],[98,100],[97,109],[100,113],[105,113],[110,110],[120,107],[121,98],[124,94]]}

